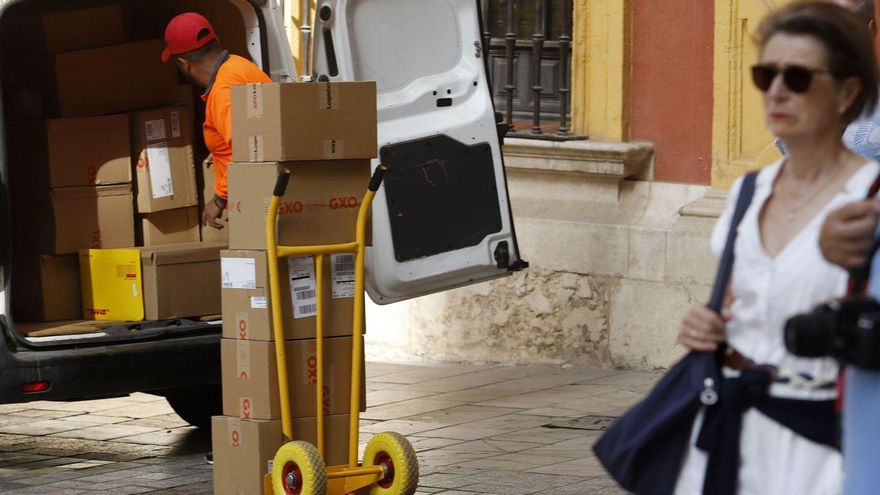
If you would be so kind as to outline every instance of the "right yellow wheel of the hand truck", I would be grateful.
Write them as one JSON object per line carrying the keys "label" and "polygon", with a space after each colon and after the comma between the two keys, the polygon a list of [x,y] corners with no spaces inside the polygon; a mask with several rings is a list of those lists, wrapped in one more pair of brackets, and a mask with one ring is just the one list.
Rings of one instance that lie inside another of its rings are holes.
{"label": "right yellow wheel of the hand truck", "polygon": [[385,477],[370,486],[370,495],[413,495],[419,485],[419,460],[403,435],[379,433],[367,442],[364,466],[384,466]]}

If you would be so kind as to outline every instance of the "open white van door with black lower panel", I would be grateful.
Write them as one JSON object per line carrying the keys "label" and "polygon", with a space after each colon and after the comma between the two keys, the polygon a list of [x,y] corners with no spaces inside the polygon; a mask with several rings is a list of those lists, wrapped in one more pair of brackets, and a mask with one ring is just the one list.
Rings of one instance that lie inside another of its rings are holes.
{"label": "open white van door with black lower panel", "polygon": [[520,257],[477,0],[322,0],[313,77],[374,80],[379,158],[366,287],[387,304],[490,280]]}

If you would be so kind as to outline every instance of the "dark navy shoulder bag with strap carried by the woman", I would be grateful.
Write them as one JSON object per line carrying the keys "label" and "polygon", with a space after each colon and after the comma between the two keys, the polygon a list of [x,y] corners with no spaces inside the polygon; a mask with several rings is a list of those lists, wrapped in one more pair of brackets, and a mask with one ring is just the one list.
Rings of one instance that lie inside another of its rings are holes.
{"label": "dark navy shoulder bag with strap carried by the woman", "polygon": [[[751,203],[756,178],[757,172],[745,176],[736,201],[708,304],[716,313],[724,303],[737,227]],[[718,407],[723,347],[685,355],[593,445],[596,457],[621,487],[638,495],[675,490],[697,412],[703,406]]]}

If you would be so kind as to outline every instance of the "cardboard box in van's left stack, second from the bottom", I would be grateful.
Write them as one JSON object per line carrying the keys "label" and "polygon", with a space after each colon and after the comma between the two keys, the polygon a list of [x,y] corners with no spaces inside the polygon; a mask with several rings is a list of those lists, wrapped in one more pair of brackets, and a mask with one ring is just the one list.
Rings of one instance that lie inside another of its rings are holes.
{"label": "cardboard box in van's left stack, second from the bottom", "polygon": [[66,254],[134,246],[130,184],[14,189],[18,252]]}

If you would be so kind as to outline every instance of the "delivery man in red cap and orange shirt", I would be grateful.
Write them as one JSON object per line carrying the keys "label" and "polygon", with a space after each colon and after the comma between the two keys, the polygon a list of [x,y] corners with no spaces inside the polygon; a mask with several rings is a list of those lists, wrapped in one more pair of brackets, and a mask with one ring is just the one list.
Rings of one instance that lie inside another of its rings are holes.
{"label": "delivery man in red cap and orange shirt", "polygon": [[226,165],[232,161],[230,86],[272,82],[253,62],[230,55],[220,46],[214,28],[195,12],[180,14],[165,28],[162,61],[174,59],[177,68],[193,83],[205,88],[205,145],[214,159],[214,197],[205,201],[202,223],[222,229],[226,208]]}

